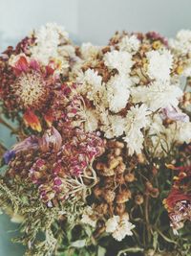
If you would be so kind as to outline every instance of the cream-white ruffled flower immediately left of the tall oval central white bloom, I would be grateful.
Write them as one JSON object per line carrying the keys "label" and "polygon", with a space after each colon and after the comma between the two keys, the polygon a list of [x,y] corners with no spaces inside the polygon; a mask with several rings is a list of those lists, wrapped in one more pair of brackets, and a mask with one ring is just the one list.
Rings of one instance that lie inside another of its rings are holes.
{"label": "cream-white ruffled flower immediately left of the tall oval central white bloom", "polygon": [[86,94],[90,101],[96,100],[97,93],[103,89],[101,81],[102,77],[98,76],[97,71],[90,68],[77,77],[77,82],[82,83],[81,93]]}

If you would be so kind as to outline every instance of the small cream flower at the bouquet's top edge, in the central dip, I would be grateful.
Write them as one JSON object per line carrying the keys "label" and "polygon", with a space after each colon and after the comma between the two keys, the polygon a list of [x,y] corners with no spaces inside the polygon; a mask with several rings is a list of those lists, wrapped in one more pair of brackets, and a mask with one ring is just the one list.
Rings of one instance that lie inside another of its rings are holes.
{"label": "small cream flower at the bouquet's top edge, in the central dip", "polygon": [[93,45],[90,42],[82,43],[80,52],[83,59],[96,58],[99,53],[100,47]]}

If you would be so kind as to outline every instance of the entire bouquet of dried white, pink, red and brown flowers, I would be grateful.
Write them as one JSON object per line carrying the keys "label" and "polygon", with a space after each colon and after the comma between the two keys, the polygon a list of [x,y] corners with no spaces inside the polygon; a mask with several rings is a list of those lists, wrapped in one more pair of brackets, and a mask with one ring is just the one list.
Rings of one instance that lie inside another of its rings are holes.
{"label": "entire bouquet of dried white, pink, red and brown flowers", "polygon": [[190,87],[191,31],[77,46],[47,24],[1,54],[0,207],[26,255],[191,255]]}

